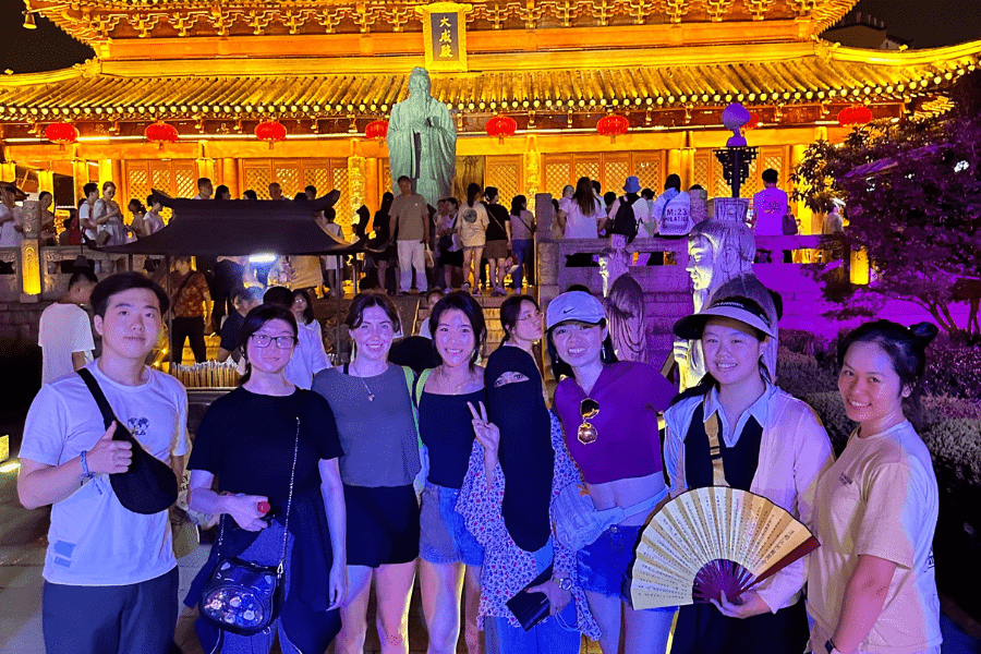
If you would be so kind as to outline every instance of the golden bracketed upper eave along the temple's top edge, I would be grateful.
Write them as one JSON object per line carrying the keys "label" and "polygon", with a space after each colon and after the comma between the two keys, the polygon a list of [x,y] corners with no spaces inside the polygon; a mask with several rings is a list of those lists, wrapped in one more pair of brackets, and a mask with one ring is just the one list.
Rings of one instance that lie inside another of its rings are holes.
{"label": "golden bracketed upper eave along the temple's top edge", "polygon": [[[858,0],[474,0],[468,31],[799,20],[820,34]],[[27,0],[93,47],[110,39],[421,32],[420,0]],[[724,28],[724,27],[722,27]]]}

